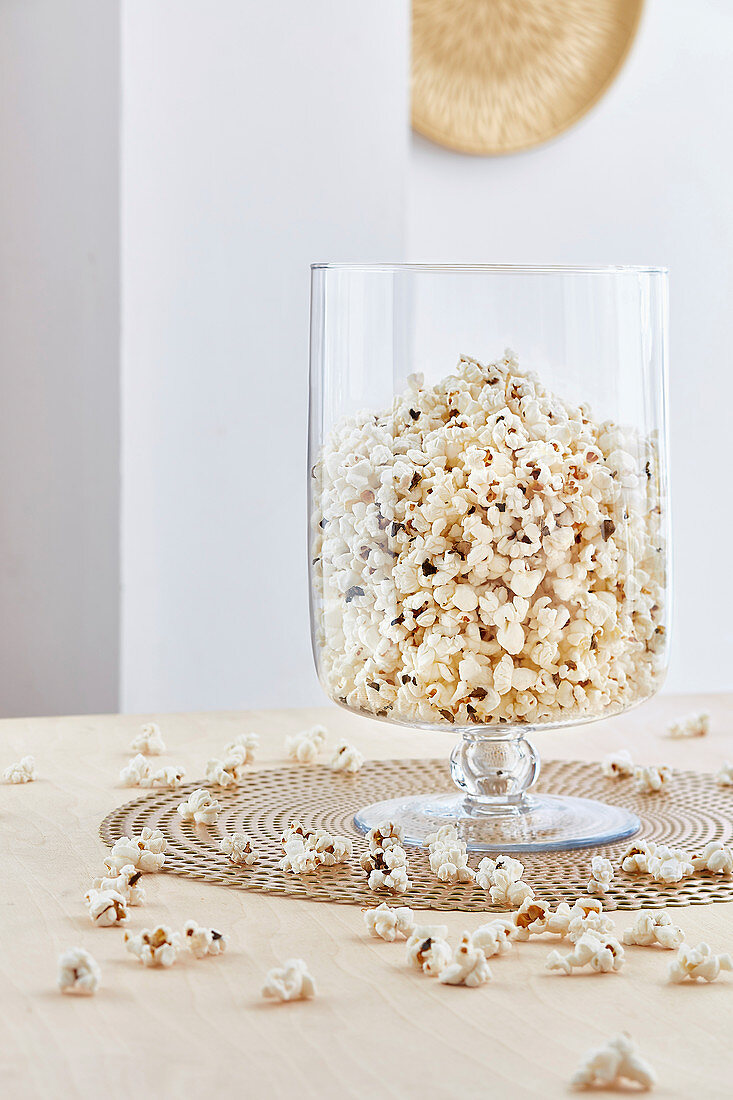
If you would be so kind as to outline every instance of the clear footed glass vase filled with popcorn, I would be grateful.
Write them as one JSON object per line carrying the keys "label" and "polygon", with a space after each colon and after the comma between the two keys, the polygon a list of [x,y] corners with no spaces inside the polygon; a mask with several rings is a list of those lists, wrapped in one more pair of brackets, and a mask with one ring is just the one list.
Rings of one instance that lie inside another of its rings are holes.
{"label": "clear footed glass vase filled with popcorn", "polygon": [[[638,820],[532,788],[534,729],[667,663],[667,276],[316,264],[310,592],[341,706],[448,733],[456,790],[362,807],[419,844],[587,847]],[[590,736],[590,730],[589,730]]]}

